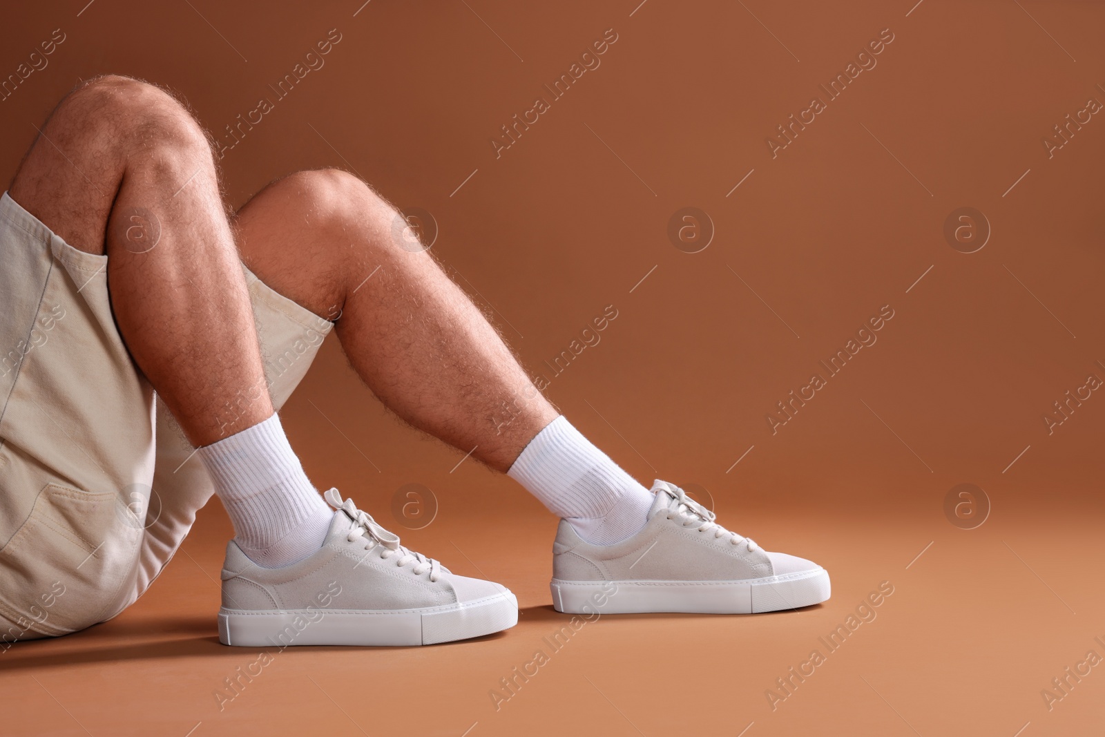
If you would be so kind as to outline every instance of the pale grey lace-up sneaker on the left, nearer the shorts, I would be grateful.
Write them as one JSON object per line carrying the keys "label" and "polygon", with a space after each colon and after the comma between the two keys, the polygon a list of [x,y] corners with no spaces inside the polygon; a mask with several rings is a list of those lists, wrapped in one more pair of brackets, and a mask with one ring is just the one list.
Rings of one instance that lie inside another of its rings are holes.
{"label": "pale grey lace-up sneaker on the left, nearer the shorts", "polygon": [[233,540],[222,569],[219,641],[250,647],[429,645],[518,623],[518,601],[498,583],[451,573],[399,545],[352,499],[336,512],[318,552],[261,568]]}

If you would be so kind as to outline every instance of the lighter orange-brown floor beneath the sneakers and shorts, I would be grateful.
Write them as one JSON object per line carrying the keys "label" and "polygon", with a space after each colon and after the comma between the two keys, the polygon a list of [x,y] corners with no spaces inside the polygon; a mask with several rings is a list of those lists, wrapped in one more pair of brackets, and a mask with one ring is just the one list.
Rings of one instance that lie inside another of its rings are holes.
{"label": "lighter orange-brown floor beneath the sneakers and shorts", "polygon": [[[547,640],[570,619],[550,607],[550,519],[451,514],[409,541],[509,586],[516,628],[430,647],[270,650],[257,666],[261,650],[218,642],[229,525],[213,503],[130,610],[0,655],[0,688],[18,705],[4,709],[0,734],[1101,734],[1098,668],[1051,710],[1041,696],[1087,651],[1105,653],[1094,640],[1105,639],[1105,592],[1085,576],[1101,557],[1102,515],[1086,507],[1072,522],[1070,512],[1056,524],[1044,505],[1022,507],[961,530],[935,515],[726,508],[736,529],[821,561],[832,599],[748,617],[609,615],[560,650]],[[893,594],[830,651],[819,638],[882,581]],[[548,662],[506,692],[501,678],[537,650]],[[813,650],[824,662],[772,709],[766,692],[783,695],[776,678]],[[225,678],[251,667],[260,674],[227,691]],[[509,696],[497,708],[496,689]]]}

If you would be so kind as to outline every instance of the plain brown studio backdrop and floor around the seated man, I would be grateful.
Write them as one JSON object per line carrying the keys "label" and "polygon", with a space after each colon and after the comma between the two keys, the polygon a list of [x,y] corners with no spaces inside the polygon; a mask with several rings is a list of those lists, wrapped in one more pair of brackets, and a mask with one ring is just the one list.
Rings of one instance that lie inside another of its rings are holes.
{"label": "plain brown studio backdrop and floor around the seated man", "polygon": [[[566,622],[548,606],[554,520],[401,427],[327,341],[283,413],[313,480],[389,524],[397,488],[433,489],[438,517],[404,539],[514,589],[519,627],[425,650],[288,651],[219,712],[213,691],[256,653],[213,639],[230,527],[212,504],[123,617],[0,655],[19,705],[0,733],[1099,729],[1099,668],[1050,712],[1040,691],[1087,650],[1105,655],[1105,399],[1051,435],[1042,418],[1087,375],[1105,379],[1105,117],[1052,158],[1042,138],[1087,98],[1105,103],[1105,8],[638,2],[13,4],[0,74],[54,29],[65,41],[0,102],[0,173],[80,78],[170,86],[223,138],[337,29],[325,66],[225,152],[231,206],[337,166],[428,210],[433,252],[548,378],[545,361],[614,305],[601,343],[546,393],[641,481],[696,484],[727,526],[824,565],[833,599],[603,619],[496,712],[487,692]],[[877,65],[772,159],[766,137],[887,28]],[[499,126],[607,29],[618,41],[601,65],[496,158]],[[669,240],[684,207],[713,221],[699,253]],[[960,207],[992,229],[976,253],[944,238]],[[776,402],[884,305],[895,316],[877,343],[772,435]],[[977,529],[945,518],[960,483],[992,504]],[[772,712],[765,689],[883,580],[896,592],[878,619]]]}

